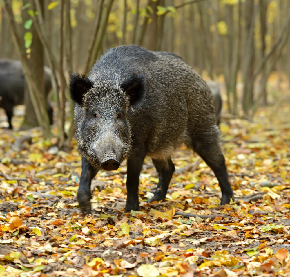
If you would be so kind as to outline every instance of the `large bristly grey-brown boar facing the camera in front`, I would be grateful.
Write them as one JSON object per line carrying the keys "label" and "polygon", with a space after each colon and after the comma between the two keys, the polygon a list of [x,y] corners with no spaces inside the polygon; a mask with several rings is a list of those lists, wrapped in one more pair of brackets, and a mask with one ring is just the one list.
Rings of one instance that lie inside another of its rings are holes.
{"label": "large bristly grey-brown boar facing the camera in front", "polygon": [[90,183],[99,169],[115,170],[127,159],[125,212],[139,210],[138,184],[144,157],[160,175],[155,195],[164,200],[175,170],[171,154],[182,143],[211,167],[222,191],[233,199],[219,146],[213,98],[206,82],[182,58],[140,46],[110,49],[90,76],[72,75],[75,130],[82,156],[78,201],[90,213]]}

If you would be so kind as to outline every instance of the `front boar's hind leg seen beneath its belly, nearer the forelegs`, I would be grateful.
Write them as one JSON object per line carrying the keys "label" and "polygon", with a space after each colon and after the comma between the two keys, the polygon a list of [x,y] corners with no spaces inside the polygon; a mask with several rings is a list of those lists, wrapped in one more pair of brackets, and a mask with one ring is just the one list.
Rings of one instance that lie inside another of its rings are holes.
{"label": "front boar's hind leg seen beneath its belly, nearer the forelegs", "polygon": [[159,182],[154,193],[154,196],[148,200],[148,202],[164,200],[168,186],[175,170],[174,164],[171,159],[166,160],[155,160],[152,159],[153,164],[159,174]]}

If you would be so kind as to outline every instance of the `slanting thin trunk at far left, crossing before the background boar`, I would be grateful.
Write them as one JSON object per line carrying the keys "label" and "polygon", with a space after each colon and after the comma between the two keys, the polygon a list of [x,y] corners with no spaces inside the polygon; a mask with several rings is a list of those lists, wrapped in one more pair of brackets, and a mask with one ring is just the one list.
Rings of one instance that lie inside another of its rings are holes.
{"label": "slanting thin trunk at far left, crossing before the background boar", "polygon": [[50,125],[49,125],[49,118],[48,118],[47,110],[44,109],[45,107],[44,97],[42,96],[42,93],[38,84],[34,81],[36,80],[36,78],[33,73],[31,65],[27,61],[25,50],[23,49],[23,46],[21,44],[21,39],[17,32],[17,27],[15,25],[12,8],[10,7],[8,0],[5,0],[4,3],[5,3],[6,11],[8,12],[10,26],[12,27],[12,35],[15,41],[17,51],[19,53],[19,57],[21,60],[22,68],[23,68],[23,73],[27,79],[29,94],[30,94],[33,108],[35,110],[37,121],[39,125],[41,125],[44,128],[44,135],[46,137],[50,137],[51,132],[50,132]]}

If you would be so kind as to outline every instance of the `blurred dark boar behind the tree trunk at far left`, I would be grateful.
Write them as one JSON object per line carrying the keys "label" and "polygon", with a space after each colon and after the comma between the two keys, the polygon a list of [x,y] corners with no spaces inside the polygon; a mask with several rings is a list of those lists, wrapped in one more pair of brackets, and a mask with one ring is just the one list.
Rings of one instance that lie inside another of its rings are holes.
{"label": "blurred dark boar behind the tree trunk at far left", "polygon": [[[45,95],[48,96],[51,90],[50,82],[51,71],[48,67],[44,67]],[[13,107],[24,103],[24,75],[21,62],[16,60],[0,59],[0,96],[2,101],[0,107],[5,109],[9,129],[12,129],[11,119],[13,115]],[[52,107],[47,103],[47,110],[52,124]]]}

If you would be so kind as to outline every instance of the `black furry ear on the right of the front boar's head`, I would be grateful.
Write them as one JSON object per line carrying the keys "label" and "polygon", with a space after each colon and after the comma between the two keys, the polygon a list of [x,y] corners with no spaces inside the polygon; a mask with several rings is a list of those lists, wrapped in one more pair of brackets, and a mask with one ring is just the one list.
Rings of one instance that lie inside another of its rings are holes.
{"label": "black furry ear on the right of the front boar's head", "polygon": [[139,102],[145,93],[145,75],[138,74],[125,80],[121,87],[130,98],[131,105]]}

